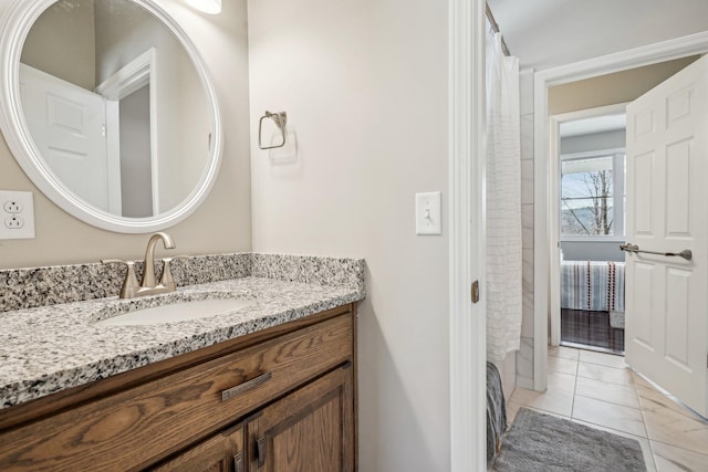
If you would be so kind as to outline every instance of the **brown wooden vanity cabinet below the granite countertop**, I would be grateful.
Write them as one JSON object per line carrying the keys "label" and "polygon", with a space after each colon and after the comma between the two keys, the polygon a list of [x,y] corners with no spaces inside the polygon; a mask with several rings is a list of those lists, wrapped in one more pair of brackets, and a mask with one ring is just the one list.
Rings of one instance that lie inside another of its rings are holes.
{"label": "brown wooden vanity cabinet below the granite countertop", "polygon": [[0,410],[0,470],[354,471],[355,305]]}

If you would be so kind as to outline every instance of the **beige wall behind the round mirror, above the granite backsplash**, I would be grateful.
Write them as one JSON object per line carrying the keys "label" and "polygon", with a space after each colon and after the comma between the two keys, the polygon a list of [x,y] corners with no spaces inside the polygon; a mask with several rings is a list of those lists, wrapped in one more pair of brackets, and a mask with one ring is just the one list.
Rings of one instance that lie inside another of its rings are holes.
{"label": "beige wall behind the round mirror, above the granite backsplash", "polygon": [[[226,133],[223,161],[204,204],[168,232],[177,251],[207,254],[251,249],[248,32],[246,0],[223,2],[218,17],[202,15],[181,2],[160,2],[187,30],[216,87]],[[2,7],[0,7],[2,8]],[[218,45],[218,46],[216,46]],[[100,230],[69,216],[30,182],[4,140],[0,140],[0,189],[34,193],[37,238],[0,240],[0,268],[139,259],[146,234]]]}

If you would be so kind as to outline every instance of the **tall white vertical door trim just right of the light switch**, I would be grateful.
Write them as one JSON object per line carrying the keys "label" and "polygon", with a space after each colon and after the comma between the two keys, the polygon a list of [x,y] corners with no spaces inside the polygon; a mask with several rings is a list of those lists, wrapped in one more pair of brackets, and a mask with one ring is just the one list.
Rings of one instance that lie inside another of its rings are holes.
{"label": "tall white vertical door trim just right of the light switch", "polygon": [[450,470],[487,470],[485,293],[485,2],[449,1]]}

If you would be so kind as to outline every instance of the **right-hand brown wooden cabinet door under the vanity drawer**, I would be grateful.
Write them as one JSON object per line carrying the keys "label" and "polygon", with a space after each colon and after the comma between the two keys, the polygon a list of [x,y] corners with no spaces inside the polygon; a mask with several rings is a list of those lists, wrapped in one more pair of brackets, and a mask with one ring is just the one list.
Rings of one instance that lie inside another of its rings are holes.
{"label": "right-hand brown wooden cabinet door under the vanity drawer", "polygon": [[247,420],[249,471],[353,472],[352,386],[346,364]]}

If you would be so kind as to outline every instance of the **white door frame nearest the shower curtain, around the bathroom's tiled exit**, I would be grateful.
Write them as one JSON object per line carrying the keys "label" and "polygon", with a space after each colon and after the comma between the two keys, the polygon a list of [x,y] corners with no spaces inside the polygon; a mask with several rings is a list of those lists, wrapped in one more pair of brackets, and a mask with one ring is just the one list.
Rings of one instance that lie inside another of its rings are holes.
{"label": "white door frame nearest the shower curtain, around the bathroom's tiled exit", "polygon": [[533,388],[548,387],[550,195],[549,87],[708,52],[708,31],[537,72],[533,76]]}

